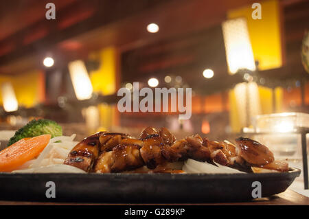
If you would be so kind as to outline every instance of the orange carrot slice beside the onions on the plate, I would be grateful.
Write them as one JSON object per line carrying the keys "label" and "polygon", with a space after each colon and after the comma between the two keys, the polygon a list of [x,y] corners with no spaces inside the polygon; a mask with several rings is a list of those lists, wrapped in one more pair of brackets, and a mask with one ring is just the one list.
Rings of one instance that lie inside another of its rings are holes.
{"label": "orange carrot slice beside the onions on the plate", "polygon": [[49,143],[51,135],[21,139],[0,151],[0,172],[11,172],[23,163],[34,159]]}

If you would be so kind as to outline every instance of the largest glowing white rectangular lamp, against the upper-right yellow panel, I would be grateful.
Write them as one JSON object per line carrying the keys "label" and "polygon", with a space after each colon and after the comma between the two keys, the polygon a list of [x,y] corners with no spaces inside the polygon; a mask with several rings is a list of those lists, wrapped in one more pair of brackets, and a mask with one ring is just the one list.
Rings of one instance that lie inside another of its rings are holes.
{"label": "largest glowing white rectangular lamp, against the upper-right yellow panel", "polygon": [[223,22],[222,32],[229,72],[234,74],[240,69],[255,71],[246,19],[238,18]]}

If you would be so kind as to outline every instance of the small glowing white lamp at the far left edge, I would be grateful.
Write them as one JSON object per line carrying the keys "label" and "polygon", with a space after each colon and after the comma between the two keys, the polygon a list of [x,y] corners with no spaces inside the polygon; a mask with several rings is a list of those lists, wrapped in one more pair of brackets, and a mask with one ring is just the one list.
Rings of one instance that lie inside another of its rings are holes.
{"label": "small glowing white lamp at the far left edge", "polygon": [[6,112],[13,112],[19,108],[12,84],[5,82],[1,85],[3,108]]}

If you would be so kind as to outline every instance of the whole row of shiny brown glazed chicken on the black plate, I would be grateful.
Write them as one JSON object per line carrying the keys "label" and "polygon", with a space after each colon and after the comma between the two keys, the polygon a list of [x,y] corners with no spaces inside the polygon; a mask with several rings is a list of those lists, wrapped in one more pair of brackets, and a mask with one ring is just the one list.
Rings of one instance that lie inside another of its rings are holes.
{"label": "whole row of shiny brown glazed chicken on the black plate", "polygon": [[[199,135],[176,140],[167,128],[145,128],[139,139],[115,132],[98,132],[80,141],[65,164],[87,172],[182,172],[167,163],[194,159],[213,161],[231,168],[251,171],[250,167],[288,171],[285,162],[275,161],[273,153],[258,141],[248,138],[209,141]],[[146,170],[143,168],[146,167]]]}

